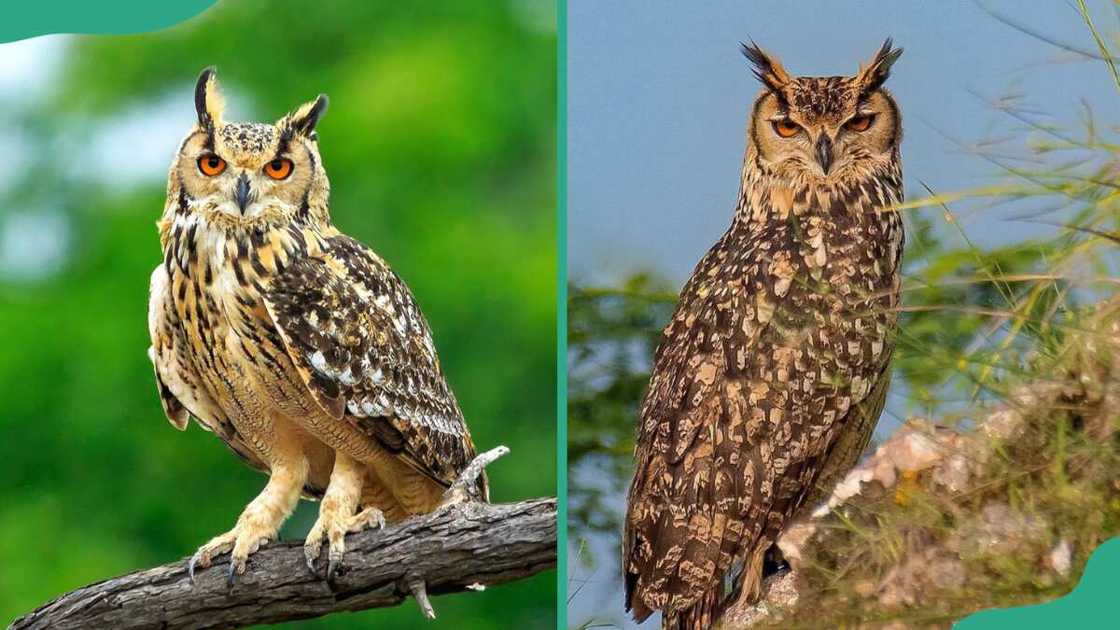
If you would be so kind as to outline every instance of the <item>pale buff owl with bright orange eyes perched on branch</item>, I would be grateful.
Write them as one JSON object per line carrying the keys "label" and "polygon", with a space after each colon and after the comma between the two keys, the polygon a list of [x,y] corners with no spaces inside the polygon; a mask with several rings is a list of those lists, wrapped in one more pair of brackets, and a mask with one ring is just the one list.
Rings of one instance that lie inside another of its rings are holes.
{"label": "pale buff owl with bright orange eyes perched on branch", "polygon": [[[308,566],[326,543],[334,576],[347,532],[433,510],[475,455],[408,286],[330,221],[326,108],[226,122],[207,70],[171,161],[149,304],[159,397],[175,427],[193,417],[269,478],[192,577],[230,553],[232,584],[301,495],[320,500]],[[469,490],[486,500],[485,476]]]}

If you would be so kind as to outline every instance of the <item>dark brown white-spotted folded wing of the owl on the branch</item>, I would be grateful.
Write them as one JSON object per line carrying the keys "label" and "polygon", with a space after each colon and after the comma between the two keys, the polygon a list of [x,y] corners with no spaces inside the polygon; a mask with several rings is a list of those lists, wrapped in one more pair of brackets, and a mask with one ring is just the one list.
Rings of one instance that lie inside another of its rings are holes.
{"label": "dark brown white-spotted folded wing of the owl on the branch", "polygon": [[365,245],[342,234],[325,243],[263,291],[296,370],[330,416],[450,485],[475,448],[427,321],[404,281]]}

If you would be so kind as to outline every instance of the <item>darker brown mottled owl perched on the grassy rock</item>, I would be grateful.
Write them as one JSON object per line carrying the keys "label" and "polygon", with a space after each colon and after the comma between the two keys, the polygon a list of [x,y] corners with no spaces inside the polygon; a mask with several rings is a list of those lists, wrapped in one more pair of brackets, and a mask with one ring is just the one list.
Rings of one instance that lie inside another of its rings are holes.
{"label": "darker brown mottled owl perched on the grassy rock", "polygon": [[626,609],[664,628],[757,601],[783,528],[867,446],[894,348],[902,124],[883,85],[902,50],[828,77],[743,53],[763,90],[738,204],[661,336],[627,495]]}

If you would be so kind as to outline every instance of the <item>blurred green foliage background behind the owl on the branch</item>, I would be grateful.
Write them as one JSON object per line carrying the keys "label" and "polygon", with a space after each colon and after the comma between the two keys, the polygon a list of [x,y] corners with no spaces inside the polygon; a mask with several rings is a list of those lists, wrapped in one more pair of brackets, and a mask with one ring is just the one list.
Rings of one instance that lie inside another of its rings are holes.
{"label": "blurred green foliage background behind the owl on the branch", "polygon": [[[556,494],[556,13],[550,0],[225,0],[137,36],[0,46],[0,620],[184,557],[262,488],[164,418],[148,276],[166,169],[216,65],[231,120],[320,92],[335,223],[409,282],[493,499]],[[301,538],[316,506],[284,527]],[[448,628],[553,628],[553,573],[438,597]],[[413,602],[318,628],[411,628]]]}

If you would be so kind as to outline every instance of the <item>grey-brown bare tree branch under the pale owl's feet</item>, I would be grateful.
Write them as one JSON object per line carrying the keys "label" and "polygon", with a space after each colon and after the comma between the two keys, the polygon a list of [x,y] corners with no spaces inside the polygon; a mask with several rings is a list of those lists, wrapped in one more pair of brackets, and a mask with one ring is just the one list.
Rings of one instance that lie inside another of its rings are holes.
{"label": "grey-brown bare tree branch under the pale owl's feet", "polygon": [[[480,590],[552,568],[556,559],[556,499],[465,503],[349,535],[334,582],[307,569],[300,541],[280,543],[253,554],[233,589],[225,581],[228,556],[197,572],[195,584],[184,559],[66,593],[9,630],[274,623],[392,606],[414,592],[427,600],[427,594]],[[433,614],[424,604],[426,615]]]}

